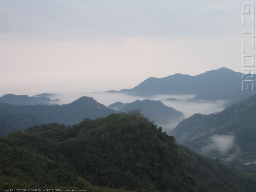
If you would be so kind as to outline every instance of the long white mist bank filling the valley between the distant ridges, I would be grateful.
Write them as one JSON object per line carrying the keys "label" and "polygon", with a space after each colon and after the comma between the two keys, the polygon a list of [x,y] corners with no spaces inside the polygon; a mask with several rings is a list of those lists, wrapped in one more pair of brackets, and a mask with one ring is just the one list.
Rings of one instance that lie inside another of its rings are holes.
{"label": "long white mist bank filling the valley between the distant ridges", "polygon": [[[115,103],[120,101],[122,103],[130,103],[135,100],[161,100],[166,106],[173,107],[176,110],[183,112],[184,117],[182,119],[188,118],[194,113],[202,113],[202,114],[210,114],[214,112],[219,112],[224,109],[225,101],[218,100],[216,102],[186,102],[187,99],[195,97],[192,94],[186,95],[155,95],[153,97],[140,97],[134,95],[127,95],[124,93],[106,93],[106,92],[99,92],[99,93],[77,93],[77,94],[58,94],[50,96],[50,99],[60,99],[61,101],[57,102],[59,104],[67,104],[71,103],[72,101],[79,99],[82,96],[92,97],[99,103],[104,104],[105,106],[109,106],[109,104]],[[170,101],[170,98],[174,101]],[[167,99],[167,100],[166,100]],[[169,99],[169,100],[168,100]],[[174,127],[176,127],[182,119],[177,119],[172,121],[170,124],[167,125],[158,125],[162,126],[164,131],[170,131]]]}

